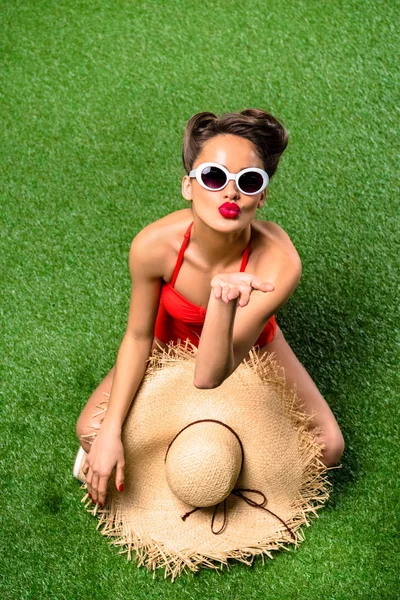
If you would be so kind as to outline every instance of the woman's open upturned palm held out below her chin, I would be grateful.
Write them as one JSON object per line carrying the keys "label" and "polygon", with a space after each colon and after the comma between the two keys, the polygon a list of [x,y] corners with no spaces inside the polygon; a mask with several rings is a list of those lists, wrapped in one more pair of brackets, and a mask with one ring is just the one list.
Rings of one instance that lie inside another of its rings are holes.
{"label": "woman's open upturned palm held out below her chin", "polygon": [[253,290],[273,292],[275,289],[272,283],[262,281],[250,273],[220,273],[212,278],[211,287],[217,300],[221,298],[225,304],[228,304],[230,300],[239,298],[239,306],[246,306],[249,303]]}

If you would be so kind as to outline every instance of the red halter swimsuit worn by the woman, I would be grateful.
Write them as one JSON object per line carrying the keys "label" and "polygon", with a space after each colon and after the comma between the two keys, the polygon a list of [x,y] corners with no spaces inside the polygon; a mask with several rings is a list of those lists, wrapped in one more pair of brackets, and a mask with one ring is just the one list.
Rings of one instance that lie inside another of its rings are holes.
{"label": "red halter swimsuit worn by the woman", "polygon": [[[174,288],[179,269],[182,265],[183,255],[189,243],[192,226],[193,223],[189,225],[189,228],[185,233],[171,282],[163,282],[161,289],[160,306],[158,309],[154,336],[165,344],[168,344],[168,342],[177,343],[178,340],[184,341],[189,339],[192,344],[198,346],[204,320],[206,318],[207,311],[205,308],[192,304]],[[240,265],[241,272],[246,268],[249,254],[250,243],[243,253],[242,264]],[[265,346],[271,342],[274,338],[275,331],[276,320],[275,315],[273,315],[262,330],[255,345]]]}

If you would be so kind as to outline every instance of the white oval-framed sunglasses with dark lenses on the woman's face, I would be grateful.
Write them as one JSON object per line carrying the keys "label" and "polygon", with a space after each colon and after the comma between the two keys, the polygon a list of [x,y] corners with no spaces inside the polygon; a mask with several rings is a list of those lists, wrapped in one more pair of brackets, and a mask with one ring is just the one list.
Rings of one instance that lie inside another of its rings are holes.
{"label": "white oval-framed sunglasses with dark lenses on the woman's face", "polygon": [[189,177],[195,177],[202,187],[212,192],[222,190],[233,179],[246,196],[259,194],[265,190],[269,181],[268,173],[262,169],[250,167],[235,174],[218,163],[202,163],[190,171]]}

